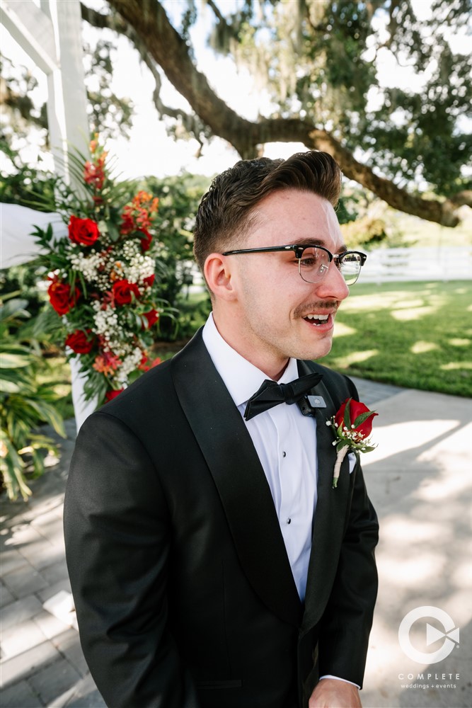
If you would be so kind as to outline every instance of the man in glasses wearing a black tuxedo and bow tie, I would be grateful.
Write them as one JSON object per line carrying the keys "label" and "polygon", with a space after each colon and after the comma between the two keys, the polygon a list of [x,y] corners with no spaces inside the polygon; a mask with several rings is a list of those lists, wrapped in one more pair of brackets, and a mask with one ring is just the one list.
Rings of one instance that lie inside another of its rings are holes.
{"label": "man in glasses wearing a black tuxedo and bow tie", "polygon": [[[364,262],[340,181],[318,152],[217,177],[195,228],[205,328],[81,428],[67,562],[113,708],[360,706],[378,526],[354,456],[332,484],[326,421],[355,387],[311,362]],[[284,384],[268,409],[267,390],[248,403],[265,379]]]}

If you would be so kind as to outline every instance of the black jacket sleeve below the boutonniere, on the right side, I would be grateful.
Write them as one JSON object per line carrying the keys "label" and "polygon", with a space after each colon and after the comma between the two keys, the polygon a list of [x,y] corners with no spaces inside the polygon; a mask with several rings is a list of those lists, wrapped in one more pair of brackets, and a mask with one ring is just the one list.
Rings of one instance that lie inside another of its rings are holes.
{"label": "black jacket sleeve below the boutonniere, on the right side", "polygon": [[[350,395],[359,400],[348,380]],[[354,474],[354,473],[353,473]],[[362,687],[378,577],[374,549],[379,523],[357,463],[338,569],[318,638],[319,675]]]}

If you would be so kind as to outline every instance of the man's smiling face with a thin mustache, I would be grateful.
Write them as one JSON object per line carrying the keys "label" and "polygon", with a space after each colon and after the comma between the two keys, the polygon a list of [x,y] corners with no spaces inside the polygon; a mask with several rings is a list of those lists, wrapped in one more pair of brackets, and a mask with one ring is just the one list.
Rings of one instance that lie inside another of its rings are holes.
{"label": "man's smiling face with a thin mustache", "polygon": [[[253,215],[255,226],[240,248],[312,244],[333,254],[345,250],[333,207],[316,194],[289,189],[273,193]],[[334,262],[323,280],[310,283],[300,277],[293,251],[225,258],[234,307],[230,322],[215,321],[238,353],[272,378],[282,374],[289,357],[328,354],[336,310],[349,294]]]}

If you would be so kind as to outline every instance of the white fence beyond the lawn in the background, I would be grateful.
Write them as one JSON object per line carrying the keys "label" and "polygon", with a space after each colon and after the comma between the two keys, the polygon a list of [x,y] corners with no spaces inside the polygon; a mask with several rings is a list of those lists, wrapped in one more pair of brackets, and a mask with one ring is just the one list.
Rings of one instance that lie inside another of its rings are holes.
{"label": "white fence beyond the lawn in the background", "polygon": [[[362,251],[362,249],[359,249]],[[369,251],[359,282],[470,280],[472,246]]]}

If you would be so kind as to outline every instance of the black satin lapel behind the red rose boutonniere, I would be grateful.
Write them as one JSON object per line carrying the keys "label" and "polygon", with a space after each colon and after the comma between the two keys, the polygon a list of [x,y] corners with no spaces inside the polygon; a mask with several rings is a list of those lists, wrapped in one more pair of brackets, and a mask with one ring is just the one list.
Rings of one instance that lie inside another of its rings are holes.
{"label": "black satin lapel behind the red rose boutonniere", "polygon": [[[311,372],[299,362],[299,373]],[[335,404],[323,380],[313,388],[313,394],[323,396],[326,408],[316,409],[316,450],[318,453],[318,499],[313,521],[311,556],[306,581],[305,612],[302,630],[308,631],[319,621],[326,607],[337,570],[333,559],[343,540],[347,497],[349,495],[349,462],[347,456],[341,465],[338,486],[333,489],[333,471],[336,450],[334,435],[326,425],[336,413]]]}

